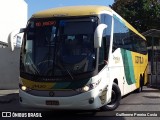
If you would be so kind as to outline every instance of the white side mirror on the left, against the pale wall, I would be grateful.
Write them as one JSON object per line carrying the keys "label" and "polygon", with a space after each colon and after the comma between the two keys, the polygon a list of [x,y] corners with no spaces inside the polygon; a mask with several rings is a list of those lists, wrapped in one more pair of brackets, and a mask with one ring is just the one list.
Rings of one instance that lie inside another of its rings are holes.
{"label": "white side mirror on the left, against the pale wall", "polygon": [[25,32],[25,30],[26,30],[25,28],[21,28],[21,29],[16,29],[10,33],[9,45],[12,51],[14,51],[14,47],[16,45],[17,39],[19,40],[21,38],[20,41],[22,41],[22,37],[20,37],[22,36],[22,34],[21,35],[18,35],[18,34]]}

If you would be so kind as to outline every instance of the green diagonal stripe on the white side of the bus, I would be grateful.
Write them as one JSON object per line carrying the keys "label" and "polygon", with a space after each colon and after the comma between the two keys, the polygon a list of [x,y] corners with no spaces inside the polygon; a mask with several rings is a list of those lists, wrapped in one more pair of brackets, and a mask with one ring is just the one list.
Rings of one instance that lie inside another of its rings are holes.
{"label": "green diagonal stripe on the white side of the bus", "polygon": [[121,49],[121,54],[124,64],[126,81],[128,85],[136,83],[131,52],[128,50]]}

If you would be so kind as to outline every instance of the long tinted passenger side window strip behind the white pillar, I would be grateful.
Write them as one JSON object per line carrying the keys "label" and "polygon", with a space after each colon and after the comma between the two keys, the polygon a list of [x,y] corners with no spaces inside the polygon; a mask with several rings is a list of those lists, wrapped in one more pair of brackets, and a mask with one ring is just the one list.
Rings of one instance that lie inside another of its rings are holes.
{"label": "long tinted passenger side window strip behind the white pillar", "polygon": [[117,48],[147,54],[146,41],[128,29],[122,21],[114,18],[112,51],[114,52]]}

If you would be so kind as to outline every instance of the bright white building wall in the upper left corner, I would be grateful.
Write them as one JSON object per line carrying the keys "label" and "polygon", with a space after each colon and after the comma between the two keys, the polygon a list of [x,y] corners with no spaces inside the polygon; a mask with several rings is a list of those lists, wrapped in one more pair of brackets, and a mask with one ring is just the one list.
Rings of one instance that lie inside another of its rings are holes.
{"label": "bright white building wall in the upper left corner", "polygon": [[27,7],[24,0],[0,1],[0,41],[8,43],[9,33],[26,26]]}

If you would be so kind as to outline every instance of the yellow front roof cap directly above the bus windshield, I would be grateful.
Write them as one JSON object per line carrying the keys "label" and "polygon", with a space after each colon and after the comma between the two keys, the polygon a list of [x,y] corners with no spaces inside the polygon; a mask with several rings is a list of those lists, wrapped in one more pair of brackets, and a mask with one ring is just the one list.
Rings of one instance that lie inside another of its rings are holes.
{"label": "yellow front roof cap directly above the bus windshield", "polygon": [[64,17],[64,16],[84,16],[99,14],[101,11],[112,11],[111,8],[106,6],[67,6],[48,9],[33,14],[33,18],[44,17]]}

